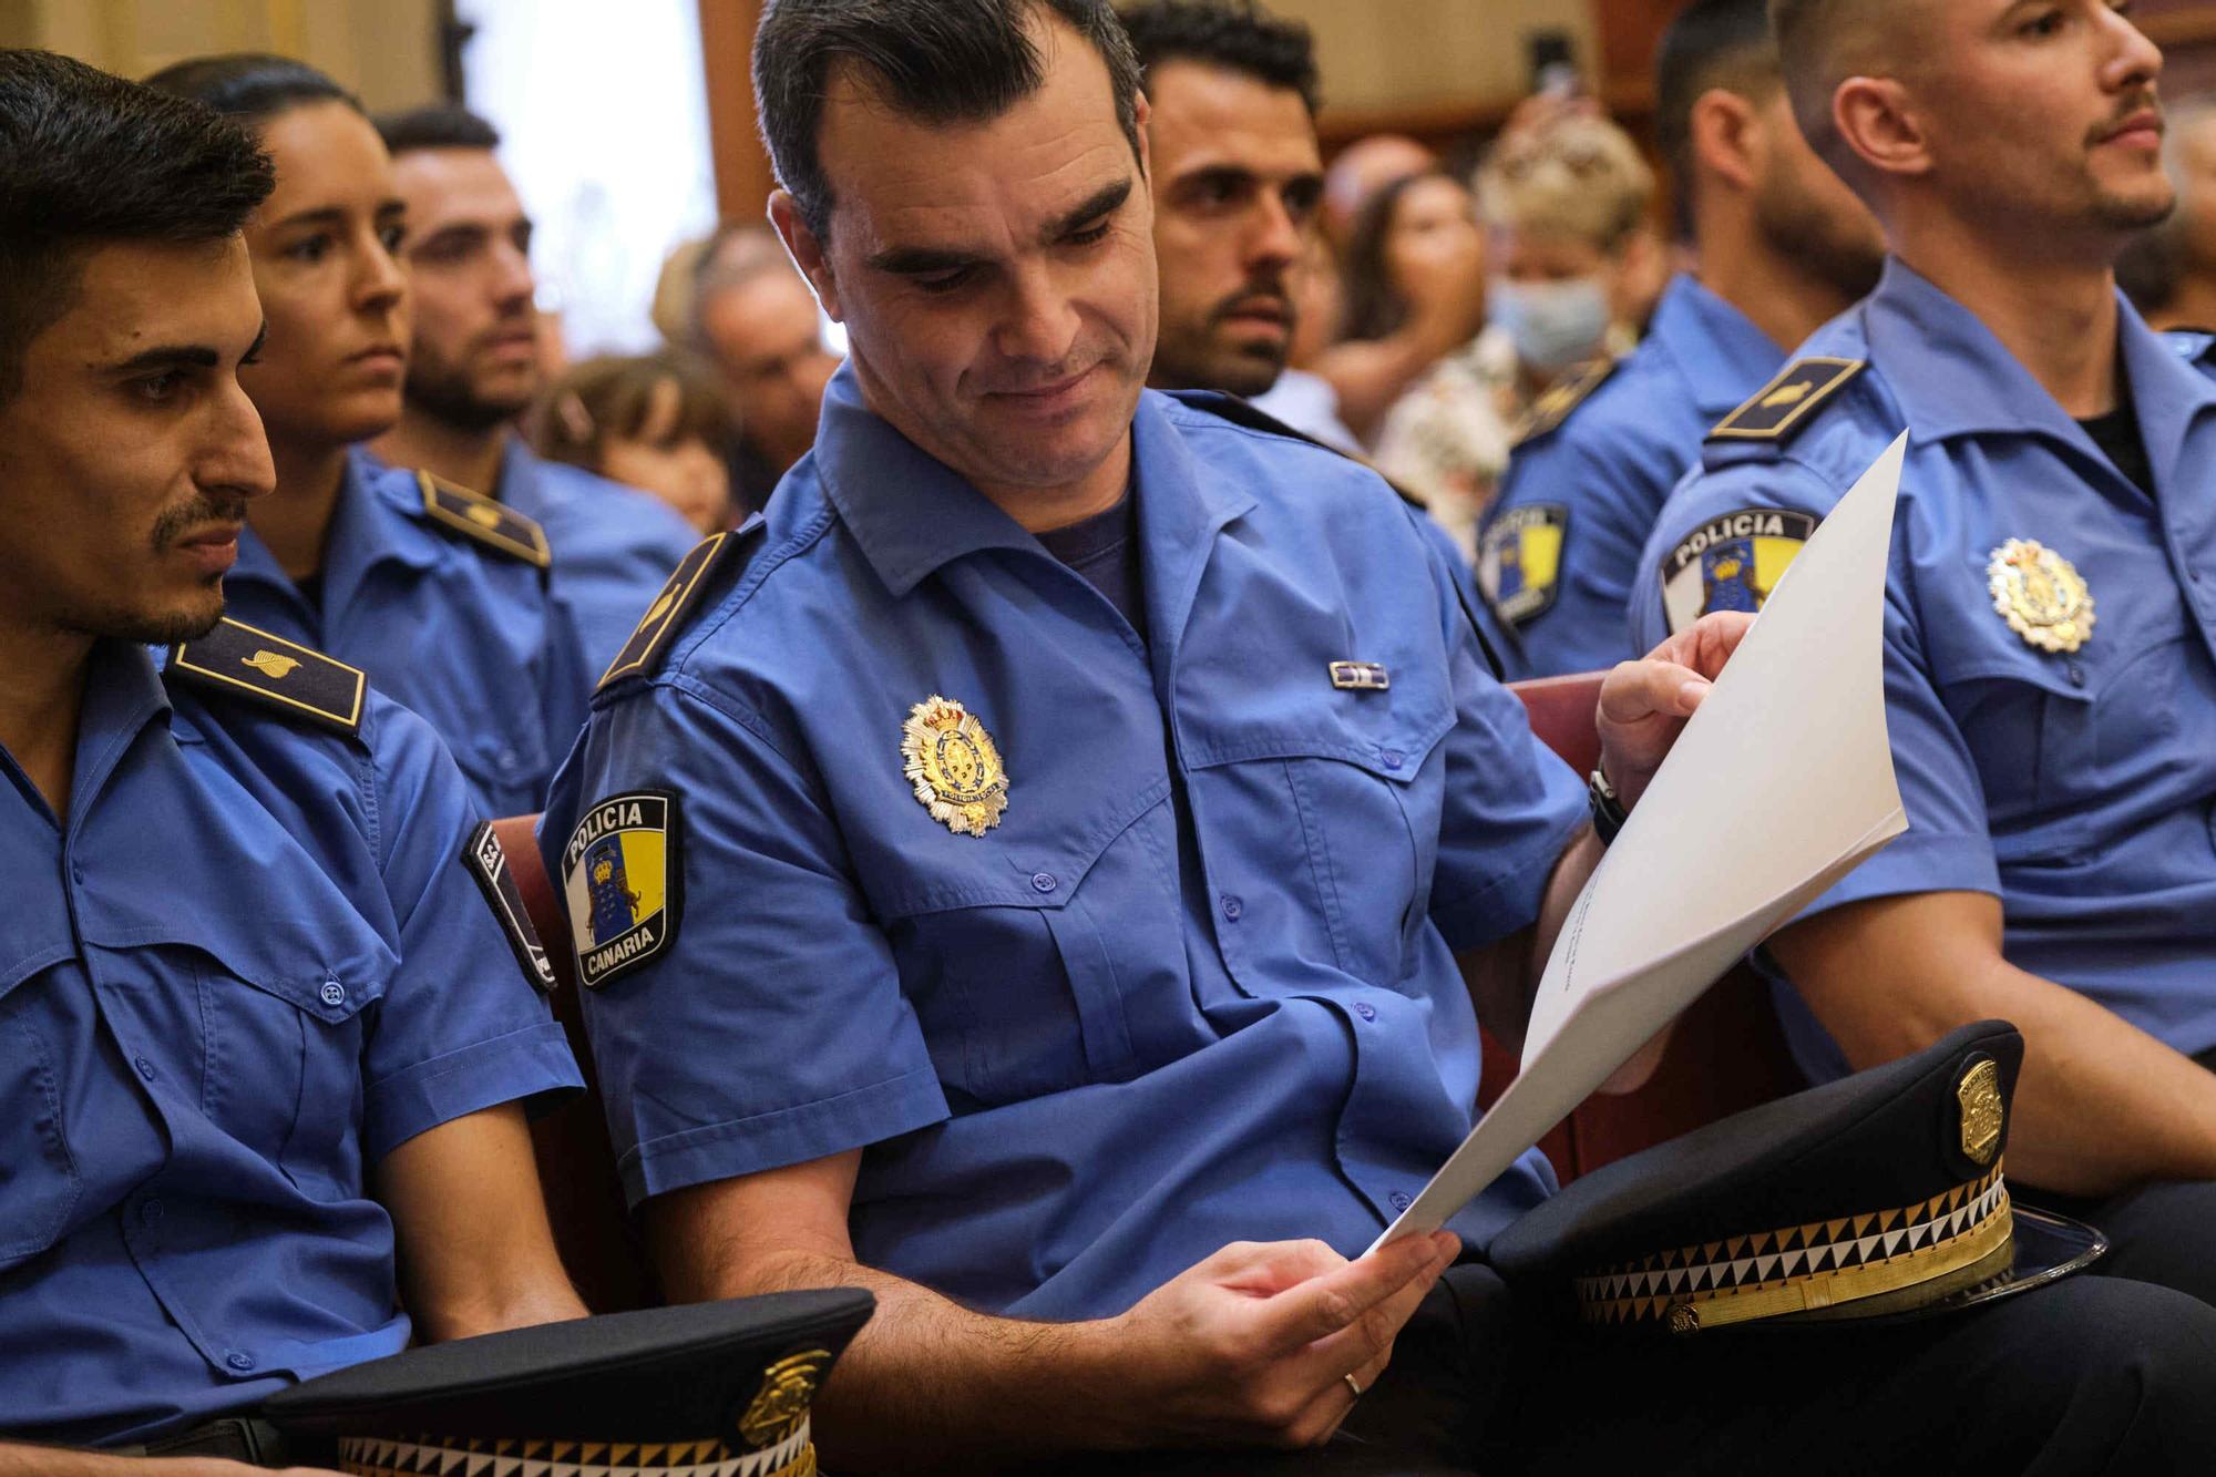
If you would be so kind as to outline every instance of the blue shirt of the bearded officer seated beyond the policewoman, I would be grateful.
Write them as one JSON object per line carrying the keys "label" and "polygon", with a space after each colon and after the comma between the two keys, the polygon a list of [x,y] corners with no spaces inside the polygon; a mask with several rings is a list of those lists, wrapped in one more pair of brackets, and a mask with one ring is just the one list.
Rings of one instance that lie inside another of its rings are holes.
{"label": "blue shirt of the bearded officer seated beyond the policewoman", "polygon": [[676,508],[510,437],[494,497],[547,530],[554,581],[601,676],[700,534]]}

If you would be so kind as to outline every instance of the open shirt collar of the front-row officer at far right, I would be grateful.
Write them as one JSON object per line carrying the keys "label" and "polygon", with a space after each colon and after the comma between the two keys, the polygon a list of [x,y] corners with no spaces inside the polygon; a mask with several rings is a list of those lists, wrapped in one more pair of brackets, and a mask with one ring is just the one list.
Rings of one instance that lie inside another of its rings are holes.
{"label": "open shirt collar of the front-row officer at far right", "polygon": [[[2132,404],[2156,481],[2167,486],[2185,428],[2216,404],[2216,384],[2185,364],[2121,295],[2116,306]],[[1861,317],[1870,359],[1886,368],[1915,444],[2034,432],[2099,455],[2085,428],[1974,313],[1899,257],[1886,262]]]}

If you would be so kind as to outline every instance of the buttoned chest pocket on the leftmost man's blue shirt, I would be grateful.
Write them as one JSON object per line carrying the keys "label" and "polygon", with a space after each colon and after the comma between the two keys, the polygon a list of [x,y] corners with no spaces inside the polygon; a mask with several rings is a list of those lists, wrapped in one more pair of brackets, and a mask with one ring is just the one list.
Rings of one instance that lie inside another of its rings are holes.
{"label": "buttoned chest pocket on the leftmost man's blue shirt", "polygon": [[361,1071],[397,956],[352,911],[270,900],[261,929],[175,923],[117,951],[115,1011],[166,1058],[155,1091],[319,1200],[361,1193]]}

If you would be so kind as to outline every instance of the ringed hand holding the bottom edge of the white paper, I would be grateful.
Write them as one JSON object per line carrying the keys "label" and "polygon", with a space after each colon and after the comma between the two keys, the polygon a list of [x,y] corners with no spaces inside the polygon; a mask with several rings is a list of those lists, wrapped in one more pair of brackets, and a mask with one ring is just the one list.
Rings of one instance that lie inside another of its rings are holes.
{"label": "ringed hand holding the bottom edge of the white paper", "polygon": [[1451,1231],[1347,1262],[1323,1242],[1234,1242],[1112,1320],[1143,1442],[1321,1446],[1369,1388],[1438,1275]]}

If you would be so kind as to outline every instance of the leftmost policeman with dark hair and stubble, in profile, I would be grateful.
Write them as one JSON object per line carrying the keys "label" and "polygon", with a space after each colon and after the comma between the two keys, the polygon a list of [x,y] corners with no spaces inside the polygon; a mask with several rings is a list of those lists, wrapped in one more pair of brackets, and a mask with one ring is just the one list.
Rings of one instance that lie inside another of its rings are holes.
{"label": "leftmost policeman with dark hair and stubble, in profile", "polygon": [[270,1450],[224,1417],[304,1375],[583,1313],[521,1107],[578,1076],[461,774],[359,670],[217,623],[273,483],[268,191],[213,111],[0,51],[9,1477],[140,1470],[24,1442],[239,1473]]}

